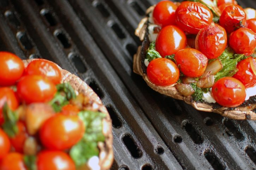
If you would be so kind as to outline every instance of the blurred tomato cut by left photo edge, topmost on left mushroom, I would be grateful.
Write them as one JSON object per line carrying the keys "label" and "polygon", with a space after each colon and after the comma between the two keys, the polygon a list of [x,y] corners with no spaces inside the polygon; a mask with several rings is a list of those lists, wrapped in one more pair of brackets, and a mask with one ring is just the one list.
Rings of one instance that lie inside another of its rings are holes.
{"label": "blurred tomato cut by left photo edge, topmost on left mushroom", "polygon": [[11,86],[22,76],[24,63],[10,52],[0,51],[0,86]]}

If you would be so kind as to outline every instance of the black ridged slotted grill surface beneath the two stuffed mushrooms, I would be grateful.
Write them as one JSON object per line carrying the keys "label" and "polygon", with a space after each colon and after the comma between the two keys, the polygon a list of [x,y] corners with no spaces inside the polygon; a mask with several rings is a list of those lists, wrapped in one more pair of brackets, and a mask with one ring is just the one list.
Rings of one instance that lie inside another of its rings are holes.
{"label": "black ridged slotted grill surface beneath the two stuffed mushrooms", "polygon": [[132,73],[134,31],[156,3],[0,0],[0,50],[52,60],[94,89],[113,120],[112,169],[256,169],[255,121],[198,112]]}

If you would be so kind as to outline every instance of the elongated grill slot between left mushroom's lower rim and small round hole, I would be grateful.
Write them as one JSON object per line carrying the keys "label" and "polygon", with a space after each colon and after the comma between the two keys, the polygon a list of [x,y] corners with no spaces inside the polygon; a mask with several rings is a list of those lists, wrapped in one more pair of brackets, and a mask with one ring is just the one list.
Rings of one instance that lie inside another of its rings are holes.
{"label": "elongated grill slot between left mushroom's lower rim and small round hole", "polygon": [[132,139],[130,135],[125,135],[123,137],[123,142],[127,149],[130,151],[133,158],[140,158],[142,156],[141,150],[136,145],[135,141]]}

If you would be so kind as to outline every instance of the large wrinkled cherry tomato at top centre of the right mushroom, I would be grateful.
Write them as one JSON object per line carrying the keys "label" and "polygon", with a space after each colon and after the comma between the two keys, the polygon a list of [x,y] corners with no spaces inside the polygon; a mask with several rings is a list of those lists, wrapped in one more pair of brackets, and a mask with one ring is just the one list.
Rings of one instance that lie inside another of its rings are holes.
{"label": "large wrinkled cherry tomato at top centre of the right mushroom", "polygon": [[213,14],[209,8],[198,2],[181,2],[175,15],[176,24],[189,34],[197,34],[213,20]]}

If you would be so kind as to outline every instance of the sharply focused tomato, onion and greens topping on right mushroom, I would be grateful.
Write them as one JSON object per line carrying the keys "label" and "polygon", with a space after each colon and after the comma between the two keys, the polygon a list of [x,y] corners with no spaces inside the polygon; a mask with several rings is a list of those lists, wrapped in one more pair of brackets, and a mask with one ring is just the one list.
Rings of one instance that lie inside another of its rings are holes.
{"label": "sharply focused tomato, onion and greens topping on right mushroom", "polygon": [[144,63],[156,86],[225,107],[256,95],[254,9],[235,0],[161,1],[148,15]]}

